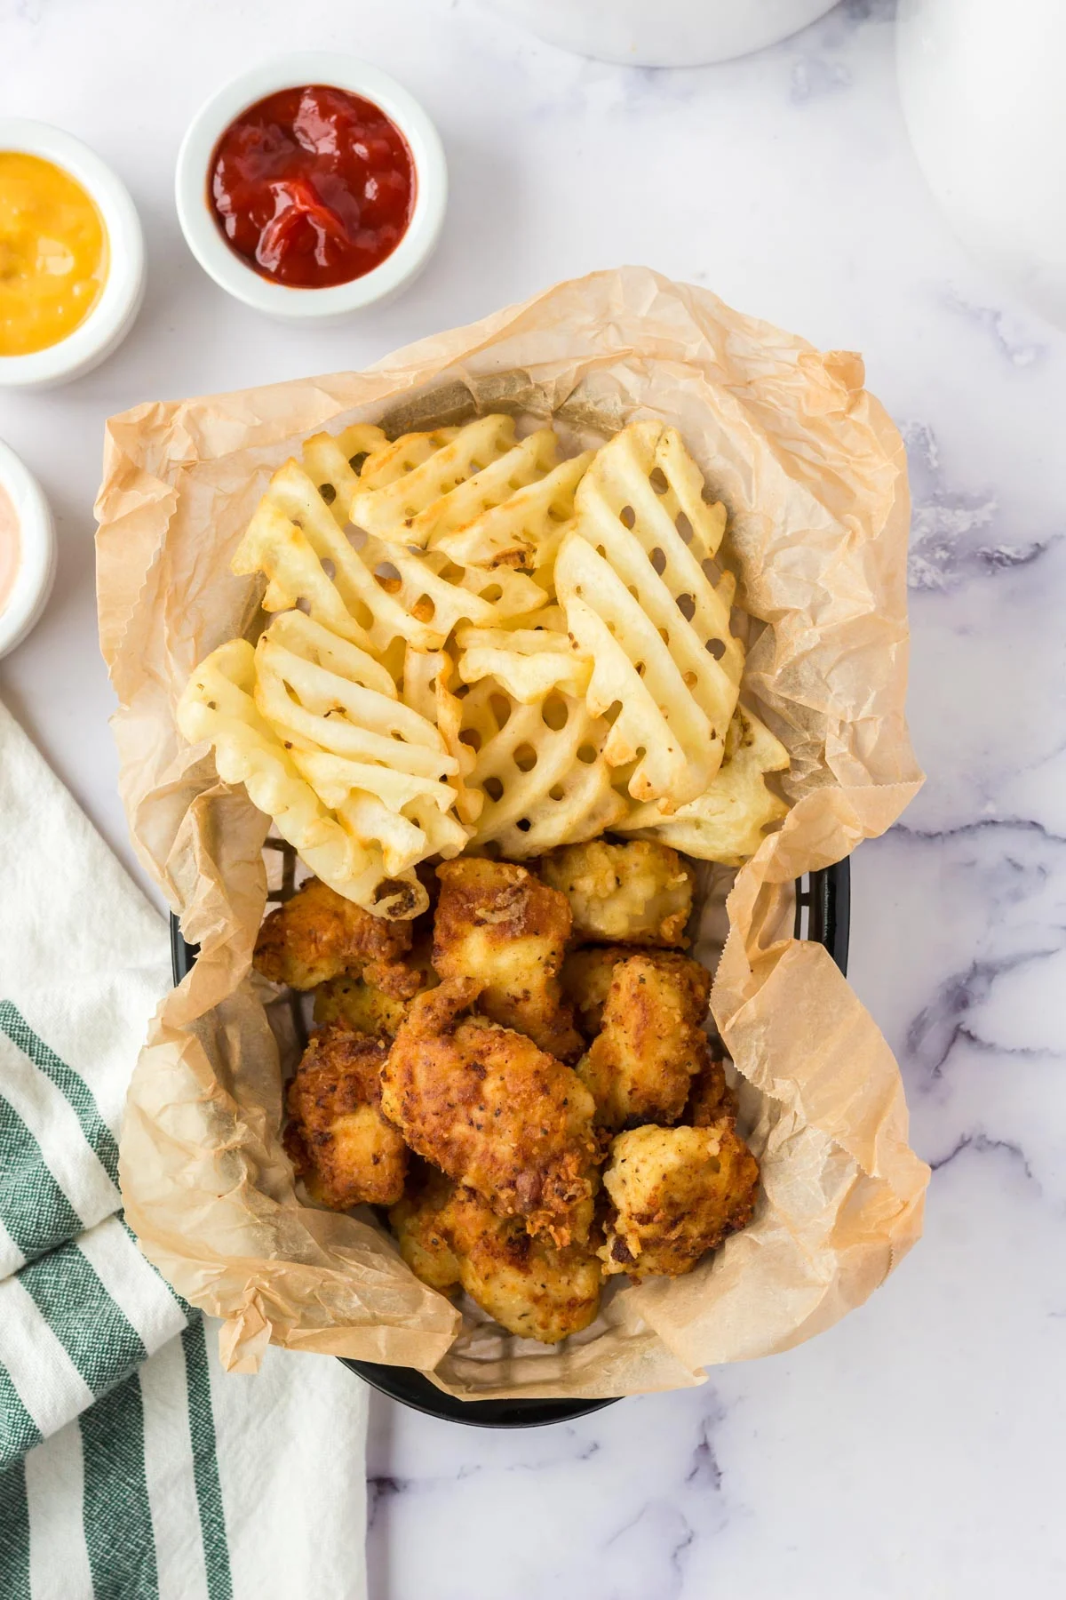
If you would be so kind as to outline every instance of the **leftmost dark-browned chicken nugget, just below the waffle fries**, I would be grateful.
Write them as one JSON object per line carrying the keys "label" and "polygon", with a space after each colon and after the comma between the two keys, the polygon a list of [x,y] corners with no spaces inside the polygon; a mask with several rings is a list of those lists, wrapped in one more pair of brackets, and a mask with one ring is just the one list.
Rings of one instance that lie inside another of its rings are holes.
{"label": "leftmost dark-browned chicken nugget, just below the waffle fries", "polygon": [[340,973],[361,973],[387,994],[403,994],[411,976],[396,957],[408,949],[409,922],[371,917],[326,883],[310,878],[265,918],[254,962],[264,978],[291,989],[313,989]]}

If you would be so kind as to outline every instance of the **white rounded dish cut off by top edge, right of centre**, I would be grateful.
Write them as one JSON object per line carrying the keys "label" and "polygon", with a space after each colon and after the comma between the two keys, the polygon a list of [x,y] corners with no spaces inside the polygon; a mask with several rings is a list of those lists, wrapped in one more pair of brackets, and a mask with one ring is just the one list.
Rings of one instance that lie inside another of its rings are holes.
{"label": "white rounded dish cut off by top edge, right of centre", "polygon": [[775,45],[836,0],[489,0],[561,50],[628,67],[700,67]]}

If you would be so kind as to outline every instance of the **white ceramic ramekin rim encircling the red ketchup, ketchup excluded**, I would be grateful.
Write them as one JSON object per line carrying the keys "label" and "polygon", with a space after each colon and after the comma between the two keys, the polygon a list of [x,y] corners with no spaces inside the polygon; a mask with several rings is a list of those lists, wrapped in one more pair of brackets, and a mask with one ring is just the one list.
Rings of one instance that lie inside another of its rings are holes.
{"label": "white ceramic ramekin rim encircling the red ketchup, ketchup excluded", "polygon": [[[361,278],[324,290],[291,288],[261,277],[225,243],[208,194],[211,157],[233,118],[278,90],[308,83],[347,90],[379,106],[408,141],[416,170],[414,211],[392,256]],[[419,275],[444,221],[447,166],[436,128],[400,83],[355,56],[315,50],[264,61],[201,106],[177,154],[174,198],[189,248],[227,294],[284,322],[331,323],[392,299]]]}

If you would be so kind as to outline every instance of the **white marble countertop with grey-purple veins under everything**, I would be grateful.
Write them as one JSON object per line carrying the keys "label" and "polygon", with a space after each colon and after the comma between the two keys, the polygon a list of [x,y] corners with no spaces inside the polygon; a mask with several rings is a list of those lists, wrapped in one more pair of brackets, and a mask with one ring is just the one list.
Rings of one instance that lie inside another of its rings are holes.
{"label": "white marble countertop with grey-purple veins under everything", "polygon": [[[897,107],[892,11],[845,0],[748,61],[642,72],[540,46],[475,0],[0,0],[3,110],[94,144],[147,229],[147,302],[118,355],[69,389],[0,395],[0,435],[59,520],[54,597],[0,666],[0,696],[126,862],[93,600],[109,413],[358,366],[636,261],[861,350],[911,451],[929,784],[855,861],[852,979],[935,1168],[925,1238],[841,1326],[698,1390],[527,1434],[376,1402],[372,1600],[1066,1586],[1066,339],[965,258],[930,202]],[[403,78],[452,173],[425,277],[331,333],[230,302],[171,200],[195,106],[243,61],[312,45]]]}

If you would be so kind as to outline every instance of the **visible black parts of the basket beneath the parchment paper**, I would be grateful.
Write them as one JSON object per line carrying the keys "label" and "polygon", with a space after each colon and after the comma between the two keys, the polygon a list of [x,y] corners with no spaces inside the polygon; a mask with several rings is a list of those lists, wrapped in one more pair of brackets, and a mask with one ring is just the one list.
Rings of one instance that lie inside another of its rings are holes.
{"label": "visible black parts of the basket beneath the parchment paper", "polygon": [[[294,858],[286,850],[281,888],[270,894],[270,899],[281,901],[292,893],[292,870]],[[847,861],[837,861],[796,882],[796,938],[813,939],[825,946],[842,973],[847,973],[850,883]],[[197,947],[185,944],[177,917],[171,917],[171,963],[176,984],[195,960]],[[473,1427],[543,1427],[548,1422],[569,1422],[615,1403],[614,1400],[457,1400],[411,1366],[382,1366],[377,1362],[350,1362],[344,1357],[340,1360],[374,1389],[400,1400],[401,1405]]]}

